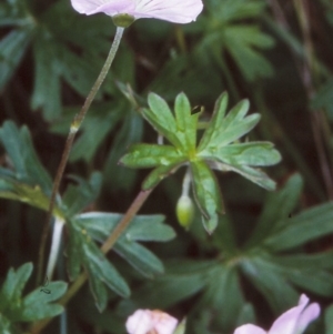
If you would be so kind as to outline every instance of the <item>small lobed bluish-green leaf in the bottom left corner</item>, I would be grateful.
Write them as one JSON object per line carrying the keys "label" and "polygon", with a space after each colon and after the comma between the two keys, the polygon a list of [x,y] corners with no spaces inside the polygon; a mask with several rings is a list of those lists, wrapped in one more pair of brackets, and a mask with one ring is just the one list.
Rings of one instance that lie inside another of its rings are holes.
{"label": "small lobed bluish-green leaf in the bottom left corner", "polygon": [[26,263],[17,271],[10,269],[4,283],[0,290],[0,328],[11,332],[10,323],[32,322],[46,317],[53,317],[63,312],[63,307],[57,303],[67,291],[67,283],[51,282],[48,284],[50,293],[43,293],[40,287],[32,291],[27,296],[22,296],[22,291],[32,272],[32,264]]}

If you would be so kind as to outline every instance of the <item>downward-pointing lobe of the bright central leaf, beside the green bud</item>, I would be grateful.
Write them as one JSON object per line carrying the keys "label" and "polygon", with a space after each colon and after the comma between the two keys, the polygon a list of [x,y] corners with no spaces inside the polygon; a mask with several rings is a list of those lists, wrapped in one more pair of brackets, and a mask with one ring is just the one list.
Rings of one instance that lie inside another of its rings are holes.
{"label": "downward-pointing lobe of the bright central leaf, beside the green bud", "polygon": [[205,230],[212,233],[218,225],[219,214],[224,210],[218,181],[203,161],[192,162],[191,171],[195,202],[202,213]]}

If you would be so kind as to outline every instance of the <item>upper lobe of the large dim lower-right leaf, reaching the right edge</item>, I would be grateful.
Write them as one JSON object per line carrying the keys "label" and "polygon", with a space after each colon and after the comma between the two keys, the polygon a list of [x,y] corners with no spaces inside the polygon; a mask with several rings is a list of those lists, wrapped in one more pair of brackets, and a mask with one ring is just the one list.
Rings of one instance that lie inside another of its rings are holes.
{"label": "upper lobe of the large dim lower-right leaf, reaching the right edge", "polygon": [[286,217],[265,240],[272,251],[294,249],[307,241],[332,233],[333,204],[326,203],[305,210],[300,214]]}

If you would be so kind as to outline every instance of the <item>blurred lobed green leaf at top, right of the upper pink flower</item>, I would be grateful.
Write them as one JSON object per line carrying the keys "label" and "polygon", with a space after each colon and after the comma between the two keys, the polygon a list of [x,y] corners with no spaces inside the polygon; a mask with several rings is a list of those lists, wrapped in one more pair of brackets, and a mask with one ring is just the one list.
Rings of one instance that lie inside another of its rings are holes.
{"label": "blurred lobed green leaf at top, right of the upper pink flower", "polygon": [[205,52],[209,50],[218,63],[224,62],[221,50],[228,52],[248,81],[273,73],[271,63],[262,54],[274,45],[273,38],[255,24],[240,23],[240,20],[259,19],[265,6],[262,0],[214,0],[206,6],[208,17],[202,26],[205,33],[201,48]]}

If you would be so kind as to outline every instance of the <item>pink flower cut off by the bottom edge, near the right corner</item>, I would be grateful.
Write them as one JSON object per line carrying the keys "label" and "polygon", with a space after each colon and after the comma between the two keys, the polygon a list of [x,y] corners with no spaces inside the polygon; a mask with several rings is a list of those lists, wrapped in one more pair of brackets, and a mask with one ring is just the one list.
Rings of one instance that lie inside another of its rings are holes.
{"label": "pink flower cut off by the bottom edge, near the right corner", "polygon": [[302,334],[306,326],[319,317],[321,308],[313,303],[307,307],[309,298],[302,294],[299,306],[284,312],[274,323],[269,332],[255,325],[246,324],[238,327],[234,334]]}

